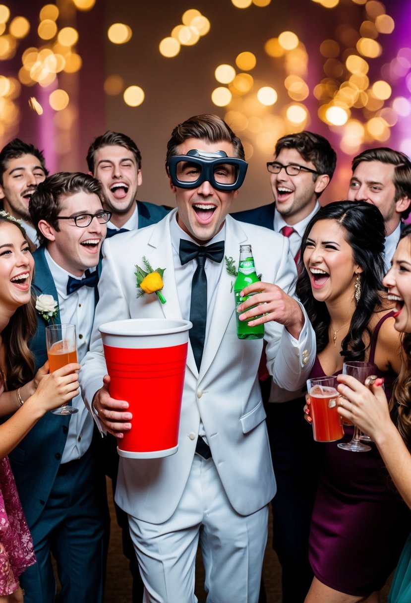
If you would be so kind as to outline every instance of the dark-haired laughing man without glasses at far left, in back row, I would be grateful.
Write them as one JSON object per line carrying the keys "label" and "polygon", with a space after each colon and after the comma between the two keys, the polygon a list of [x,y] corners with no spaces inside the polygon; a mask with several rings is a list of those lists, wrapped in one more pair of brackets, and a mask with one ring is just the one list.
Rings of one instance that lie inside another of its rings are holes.
{"label": "dark-haired laughing man without glasses at far left, in back row", "polygon": [[14,138],[0,152],[0,200],[3,209],[22,224],[37,245],[36,229],[31,222],[28,203],[37,185],[48,175],[43,152],[34,145]]}

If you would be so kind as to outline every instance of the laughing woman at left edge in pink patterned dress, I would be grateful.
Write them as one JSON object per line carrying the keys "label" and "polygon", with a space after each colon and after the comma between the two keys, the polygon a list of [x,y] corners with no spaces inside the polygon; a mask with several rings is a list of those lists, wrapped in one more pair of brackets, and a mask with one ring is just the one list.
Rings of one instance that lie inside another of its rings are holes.
{"label": "laughing woman at left edge in pink patterned dress", "polygon": [[34,260],[24,229],[0,212],[0,603],[21,603],[19,576],[36,559],[7,454],[52,408],[78,393],[76,370],[67,364],[52,374],[37,371],[27,341],[36,329],[30,287]]}

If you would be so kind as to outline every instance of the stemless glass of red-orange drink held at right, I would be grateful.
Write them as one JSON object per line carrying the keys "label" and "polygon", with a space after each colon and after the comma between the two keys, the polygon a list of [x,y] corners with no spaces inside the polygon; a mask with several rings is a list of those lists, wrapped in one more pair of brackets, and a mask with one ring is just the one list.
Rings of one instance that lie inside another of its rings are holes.
{"label": "stemless glass of red-orange drink held at right", "polygon": [[341,417],[337,412],[337,385],[334,376],[307,380],[313,435],[317,442],[333,442],[344,436]]}

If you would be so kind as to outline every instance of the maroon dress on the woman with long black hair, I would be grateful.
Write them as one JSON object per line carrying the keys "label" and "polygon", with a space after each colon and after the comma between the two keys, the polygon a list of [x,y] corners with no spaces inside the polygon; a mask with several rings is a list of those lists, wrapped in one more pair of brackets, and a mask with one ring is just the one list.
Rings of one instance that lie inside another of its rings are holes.
{"label": "maroon dress on the woman with long black hair", "polygon": [[[369,362],[374,362],[378,322],[372,335]],[[339,371],[336,374],[341,373]],[[395,373],[384,377],[391,397]],[[310,377],[325,376],[318,358]],[[353,436],[345,427],[343,440]],[[323,584],[353,596],[380,590],[397,566],[411,529],[411,513],[394,488],[374,443],[369,452],[349,452],[337,442],[325,444],[324,462],[310,529],[309,559]]]}

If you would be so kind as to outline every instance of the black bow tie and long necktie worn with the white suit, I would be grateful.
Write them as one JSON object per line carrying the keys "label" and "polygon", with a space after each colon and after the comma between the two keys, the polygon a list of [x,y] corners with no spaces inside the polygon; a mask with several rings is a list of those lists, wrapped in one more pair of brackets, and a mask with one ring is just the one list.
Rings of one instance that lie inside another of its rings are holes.
{"label": "black bow tie and long necktie worn with the white suit", "polygon": [[187,264],[193,259],[196,259],[198,264],[191,283],[190,321],[193,323],[193,327],[189,333],[195,364],[200,370],[207,323],[206,259],[208,257],[213,262],[221,262],[224,257],[224,241],[200,247],[191,241],[180,239],[178,253],[180,254],[181,265]]}

